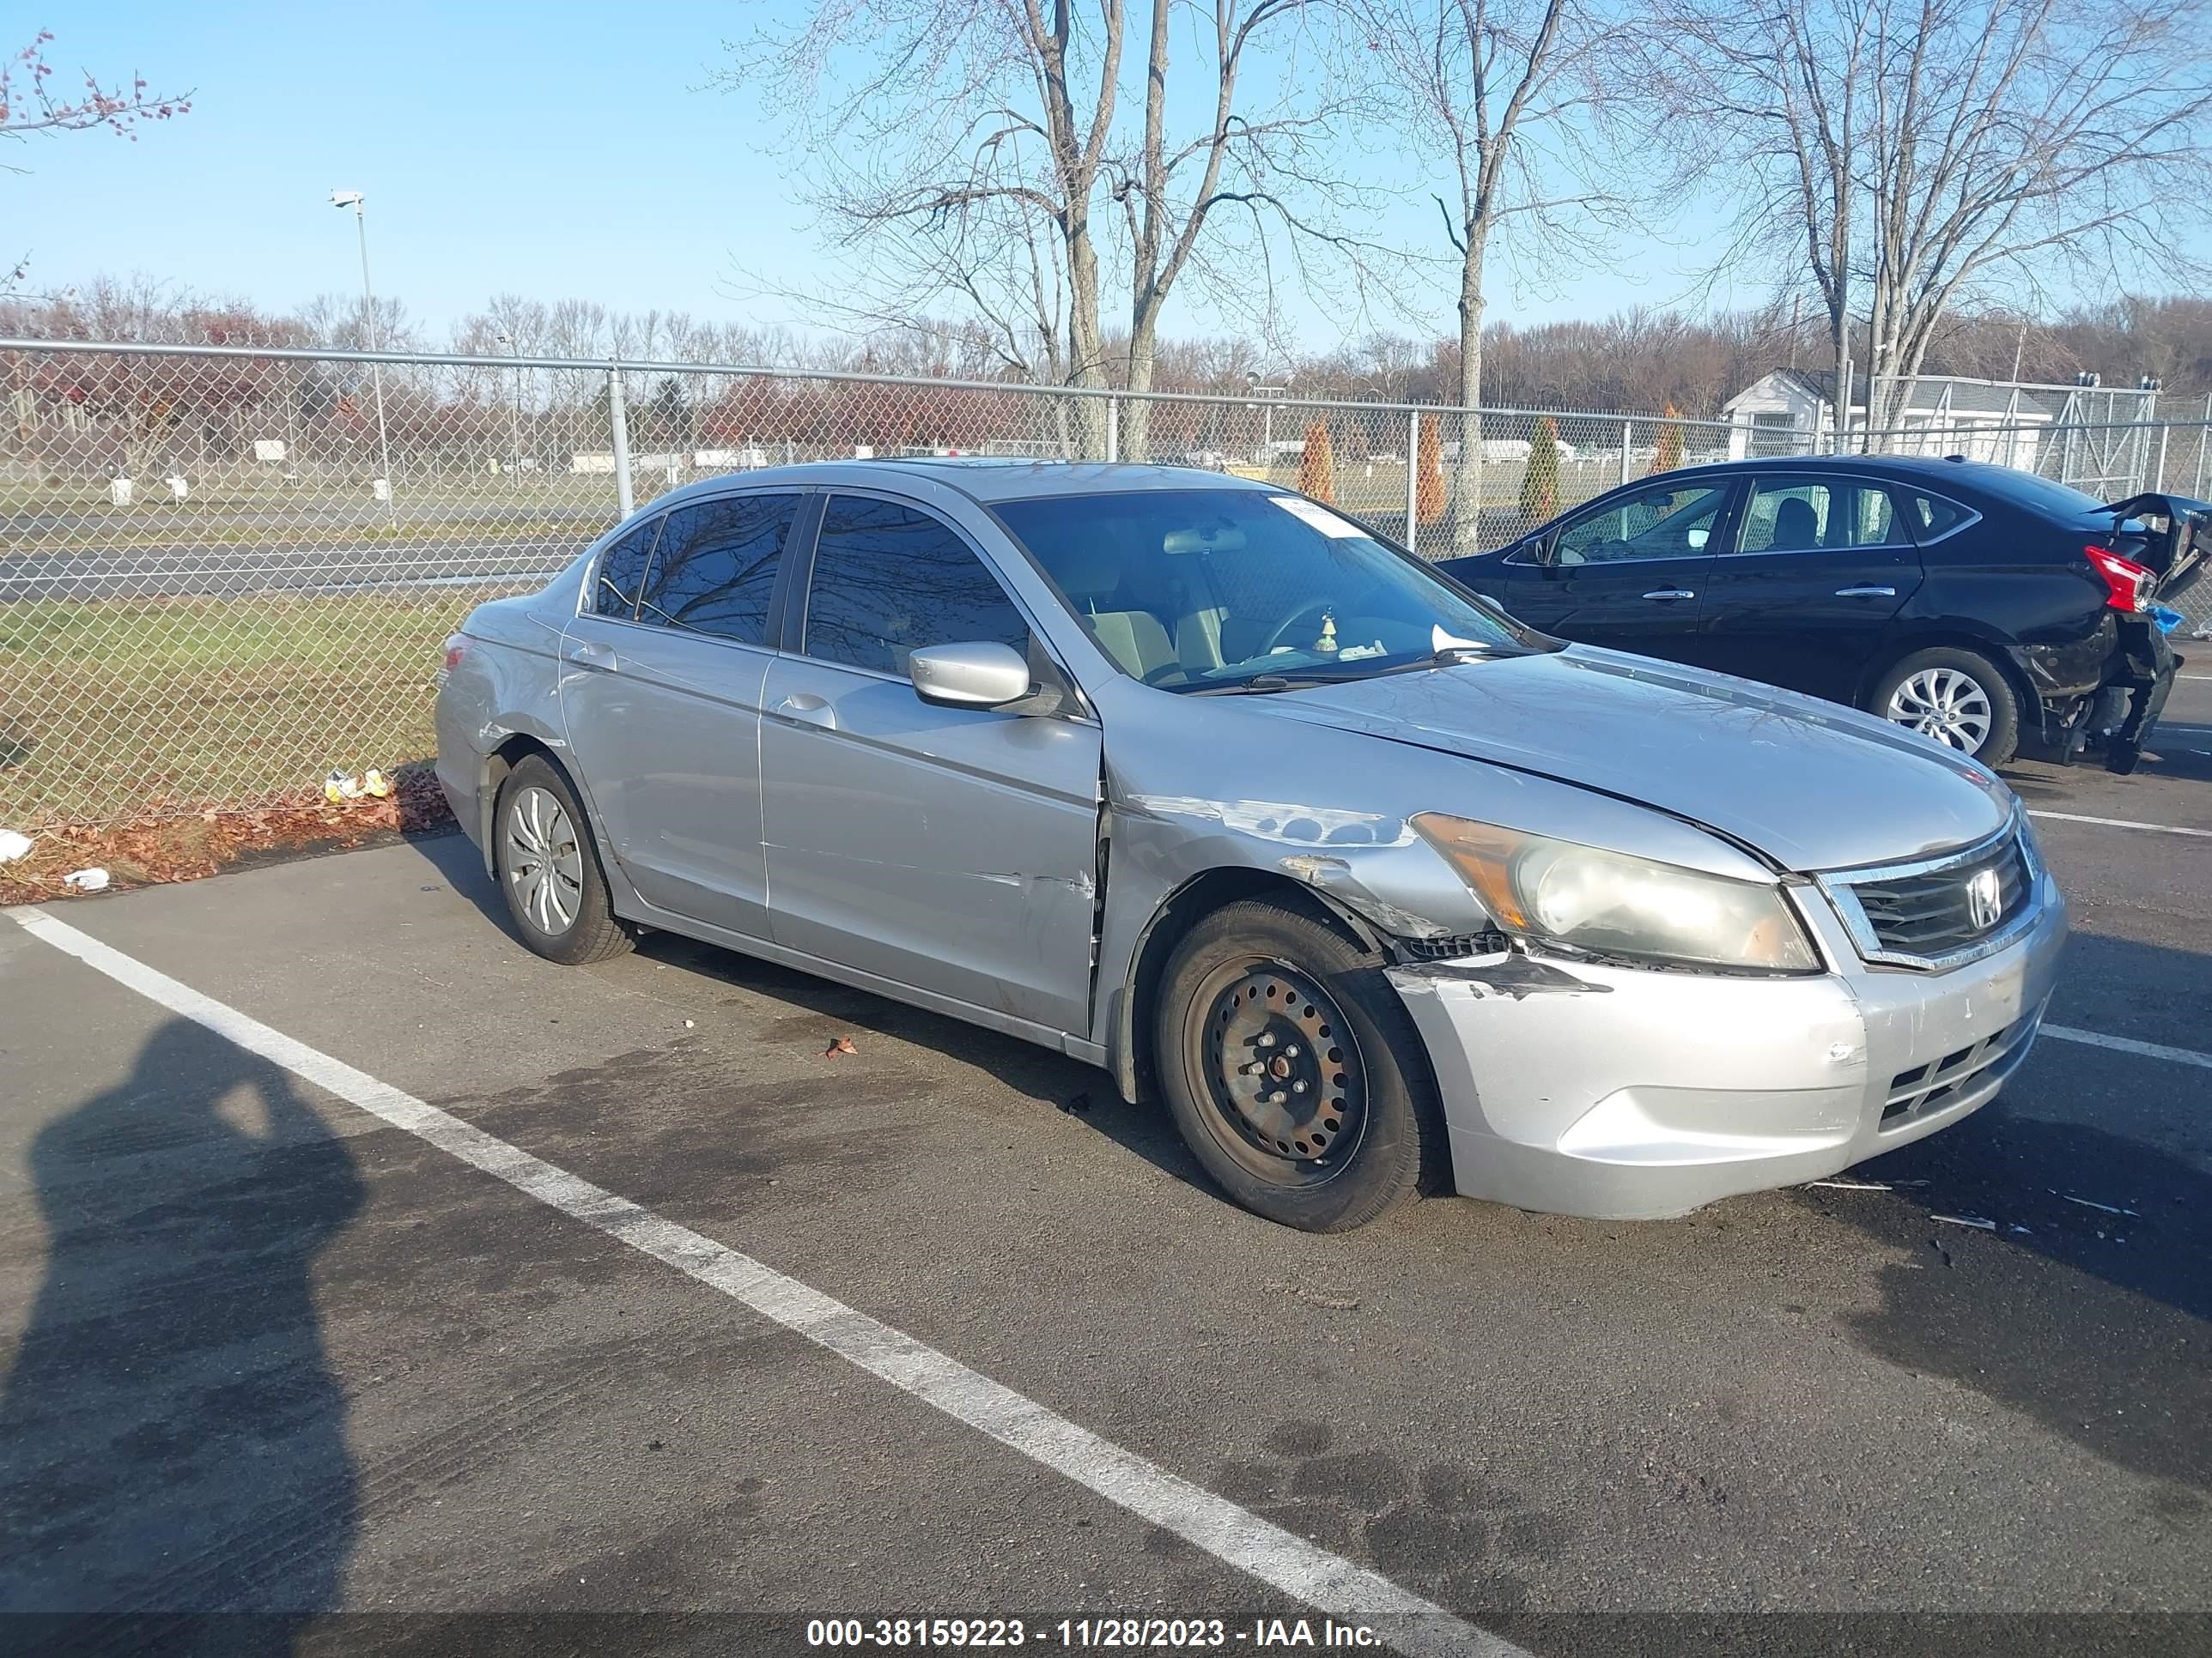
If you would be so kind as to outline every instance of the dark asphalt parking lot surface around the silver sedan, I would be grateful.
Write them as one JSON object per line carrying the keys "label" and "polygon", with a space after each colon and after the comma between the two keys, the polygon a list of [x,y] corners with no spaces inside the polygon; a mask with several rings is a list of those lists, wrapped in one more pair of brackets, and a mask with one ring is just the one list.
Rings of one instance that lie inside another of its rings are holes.
{"label": "dark asphalt parking lot surface around the silver sedan", "polygon": [[1044,1050],[672,937],[540,962],[460,838],[0,922],[0,1609],[2212,1649],[2212,679],[2141,774],[2013,780],[2075,940],[2008,1094],[1650,1225],[1281,1231]]}

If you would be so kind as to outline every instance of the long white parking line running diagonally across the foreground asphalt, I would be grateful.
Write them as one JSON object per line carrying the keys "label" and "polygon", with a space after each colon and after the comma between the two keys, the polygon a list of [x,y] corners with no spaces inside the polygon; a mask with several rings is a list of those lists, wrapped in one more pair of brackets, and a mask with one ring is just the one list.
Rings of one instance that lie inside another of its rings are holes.
{"label": "long white parking line running diagonally across the foreground asphalt", "polygon": [[7,911],[33,937],[106,973],[175,1015],[206,1026],[294,1077],[380,1116],[392,1127],[429,1141],[462,1163],[507,1180],[540,1203],[626,1242],[644,1256],[719,1289],[754,1313],[783,1324],[863,1371],[933,1404],[953,1421],[1020,1450],[1031,1461],[1066,1475],[1110,1503],[1161,1525],[1261,1583],[1296,1596],[1340,1620],[1371,1625],[1394,1647],[1438,1658],[1528,1658],[1502,1636],[1444,1612],[1385,1576],[1263,1521],[1159,1463],[1102,1439],[1042,1404],[1000,1386],[911,1335],[856,1313],[843,1302],[763,1267],[675,1220],[664,1220],[628,1198],[484,1134],[458,1116],[425,1105],[380,1083],[343,1059],[201,995],[166,973],[115,951],[38,909]]}

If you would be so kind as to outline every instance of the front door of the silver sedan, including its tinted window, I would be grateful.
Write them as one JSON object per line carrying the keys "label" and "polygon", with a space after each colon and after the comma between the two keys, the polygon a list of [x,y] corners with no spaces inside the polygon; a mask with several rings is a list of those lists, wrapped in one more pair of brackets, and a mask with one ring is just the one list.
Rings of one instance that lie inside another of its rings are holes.
{"label": "front door of the silver sedan, including its tinted window", "polygon": [[907,681],[922,646],[1029,650],[1029,619],[936,515],[832,495],[801,626],[761,699],[772,937],[1086,1032],[1099,727],[933,707]]}

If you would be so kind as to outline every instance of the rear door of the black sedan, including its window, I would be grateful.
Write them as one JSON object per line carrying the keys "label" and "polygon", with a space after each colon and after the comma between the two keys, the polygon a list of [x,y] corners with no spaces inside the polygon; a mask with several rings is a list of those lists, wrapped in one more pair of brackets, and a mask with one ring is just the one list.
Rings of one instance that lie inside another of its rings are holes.
{"label": "rear door of the black sedan, including its window", "polygon": [[1759,478],[1705,573],[1694,661],[1847,703],[1918,586],[1920,550],[1887,484]]}

